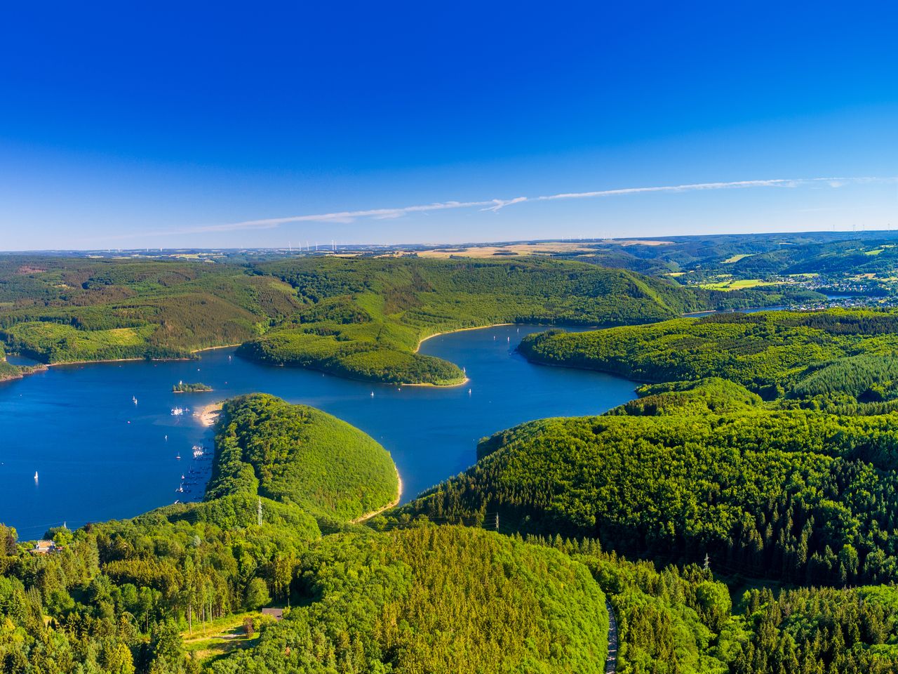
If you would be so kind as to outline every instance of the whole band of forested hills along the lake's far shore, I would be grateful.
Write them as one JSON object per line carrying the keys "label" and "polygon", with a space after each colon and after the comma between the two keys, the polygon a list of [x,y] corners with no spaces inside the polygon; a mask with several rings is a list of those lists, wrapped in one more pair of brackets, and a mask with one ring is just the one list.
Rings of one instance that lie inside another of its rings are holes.
{"label": "whole band of forested hills along the lake's far shore", "polygon": [[244,344],[243,355],[267,362],[457,384],[459,368],[416,353],[422,338],[509,322],[650,323],[709,302],[706,291],[670,280],[535,258],[0,257],[0,340],[47,363],[180,358]]}

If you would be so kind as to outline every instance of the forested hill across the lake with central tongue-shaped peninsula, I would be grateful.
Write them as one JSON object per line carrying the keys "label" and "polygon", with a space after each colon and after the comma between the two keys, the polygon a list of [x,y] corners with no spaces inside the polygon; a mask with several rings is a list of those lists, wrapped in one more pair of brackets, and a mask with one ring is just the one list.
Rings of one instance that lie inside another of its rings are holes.
{"label": "forested hill across the lake with central tongue-shaped peninsula", "polygon": [[289,283],[308,305],[245,344],[242,354],[397,383],[464,381],[457,366],[415,352],[436,333],[497,323],[648,323],[698,306],[665,281],[534,259],[329,258],[260,269]]}

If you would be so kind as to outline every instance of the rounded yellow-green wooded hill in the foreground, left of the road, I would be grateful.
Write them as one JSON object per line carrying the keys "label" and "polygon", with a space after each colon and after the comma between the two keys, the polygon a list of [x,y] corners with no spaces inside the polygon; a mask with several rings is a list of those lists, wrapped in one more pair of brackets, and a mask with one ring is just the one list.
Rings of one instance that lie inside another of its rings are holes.
{"label": "rounded yellow-green wooded hill in the foreground, left of the road", "polygon": [[327,537],[304,605],[216,674],[603,672],[604,595],[556,550],[470,528]]}

